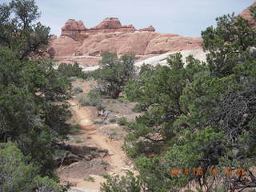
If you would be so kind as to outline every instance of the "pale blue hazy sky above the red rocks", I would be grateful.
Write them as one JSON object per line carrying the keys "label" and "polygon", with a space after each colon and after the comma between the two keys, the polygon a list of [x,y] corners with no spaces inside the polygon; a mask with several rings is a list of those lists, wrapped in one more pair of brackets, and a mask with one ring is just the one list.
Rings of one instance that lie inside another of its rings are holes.
{"label": "pale blue hazy sky above the red rocks", "polygon": [[[8,2],[8,0],[0,0]],[[82,20],[87,28],[104,18],[119,18],[122,25],[136,29],[154,26],[159,33],[199,37],[215,18],[239,14],[255,0],[35,0],[42,16],[40,22],[50,26],[51,34],[61,34],[70,19]]]}

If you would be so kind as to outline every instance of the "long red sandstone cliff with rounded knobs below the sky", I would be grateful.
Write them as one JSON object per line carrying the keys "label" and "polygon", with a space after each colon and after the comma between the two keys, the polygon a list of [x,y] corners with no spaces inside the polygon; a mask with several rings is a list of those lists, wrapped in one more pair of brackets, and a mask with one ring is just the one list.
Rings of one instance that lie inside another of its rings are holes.
{"label": "long red sandstone cliff with rounded knobs below the sky", "polygon": [[87,29],[82,21],[70,19],[62,27],[59,38],[50,42],[51,57],[72,55],[100,56],[117,54],[163,54],[177,50],[200,49],[201,38],[185,38],[178,34],[159,34],[154,26],[136,30],[122,26],[118,18],[106,18],[98,26]]}

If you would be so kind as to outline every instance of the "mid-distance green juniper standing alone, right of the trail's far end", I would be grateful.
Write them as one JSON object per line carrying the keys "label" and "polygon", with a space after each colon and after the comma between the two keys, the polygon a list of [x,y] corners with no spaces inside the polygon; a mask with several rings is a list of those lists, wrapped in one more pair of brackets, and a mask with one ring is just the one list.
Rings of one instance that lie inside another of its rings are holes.
{"label": "mid-distance green juniper standing alone, right of the trail's far end", "polygon": [[125,54],[118,58],[117,54],[102,54],[102,68],[95,72],[94,78],[103,94],[118,98],[126,83],[134,76],[134,55]]}

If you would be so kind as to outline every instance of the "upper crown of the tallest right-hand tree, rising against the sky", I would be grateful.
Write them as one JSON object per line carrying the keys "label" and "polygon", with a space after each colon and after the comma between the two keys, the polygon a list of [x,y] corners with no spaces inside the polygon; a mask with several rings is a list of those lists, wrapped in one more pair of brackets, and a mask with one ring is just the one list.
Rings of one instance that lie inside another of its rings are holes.
{"label": "upper crown of the tallest right-hand tree, rising against the sky", "polygon": [[202,46],[209,51],[207,62],[212,74],[223,77],[233,74],[234,67],[246,60],[250,47],[255,46],[256,34],[240,16],[228,14],[216,20],[216,28],[210,26],[202,31]]}

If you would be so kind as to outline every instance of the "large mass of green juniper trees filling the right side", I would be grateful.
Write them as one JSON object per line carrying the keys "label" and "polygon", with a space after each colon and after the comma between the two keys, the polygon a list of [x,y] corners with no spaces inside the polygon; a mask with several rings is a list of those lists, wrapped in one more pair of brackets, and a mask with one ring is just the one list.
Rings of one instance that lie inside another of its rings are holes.
{"label": "large mass of green juniper trees filling the right side", "polygon": [[[255,16],[255,7],[250,10]],[[255,33],[244,18],[224,15],[202,31],[206,63],[190,56],[185,65],[174,54],[169,66],[142,66],[128,83],[126,96],[142,115],[126,123],[123,148],[149,191],[179,191],[190,182],[198,191],[256,186],[249,171],[256,160]],[[250,177],[206,174],[216,167],[244,168]],[[204,174],[171,176],[170,168]]]}

